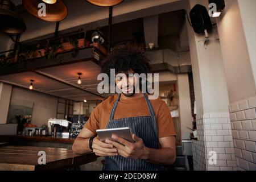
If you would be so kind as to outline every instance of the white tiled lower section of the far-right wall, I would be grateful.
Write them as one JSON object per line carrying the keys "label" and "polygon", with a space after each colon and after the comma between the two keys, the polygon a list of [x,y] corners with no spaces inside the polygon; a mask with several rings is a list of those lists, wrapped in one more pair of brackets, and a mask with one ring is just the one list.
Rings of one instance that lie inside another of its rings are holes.
{"label": "white tiled lower section of the far-right wall", "polygon": [[229,106],[238,170],[256,171],[256,97]]}

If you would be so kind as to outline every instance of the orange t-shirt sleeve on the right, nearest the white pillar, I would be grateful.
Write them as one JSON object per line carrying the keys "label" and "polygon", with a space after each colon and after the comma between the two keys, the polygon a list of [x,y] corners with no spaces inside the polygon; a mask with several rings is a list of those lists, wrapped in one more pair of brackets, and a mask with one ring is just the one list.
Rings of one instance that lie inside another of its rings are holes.
{"label": "orange t-shirt sleeve on the right, nearest the white pillar", "polygon": [[170,137],[175,136],[175,129],[174,129],[174,122],[171,117],[171,111],[169,110],[168,106],[165,102],[163,102],[158,111],[158,117],[157,123],[158,123],[158,137],[164,138],[164,137]]}

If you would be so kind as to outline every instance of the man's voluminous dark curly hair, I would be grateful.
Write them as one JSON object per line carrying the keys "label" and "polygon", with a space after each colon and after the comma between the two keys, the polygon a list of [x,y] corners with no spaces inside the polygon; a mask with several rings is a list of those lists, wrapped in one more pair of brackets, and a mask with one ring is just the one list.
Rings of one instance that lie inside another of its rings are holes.
{"label": "man's voluminous dark curly hair", "polygon": [[139,75],[141,73],[151,73],[150,60],[141,49],[127,46],[115,46],[108,57],[101,64],[101,72],[110,76],[110,69],[115,69],[115,73],[127,73],[132,69]]}

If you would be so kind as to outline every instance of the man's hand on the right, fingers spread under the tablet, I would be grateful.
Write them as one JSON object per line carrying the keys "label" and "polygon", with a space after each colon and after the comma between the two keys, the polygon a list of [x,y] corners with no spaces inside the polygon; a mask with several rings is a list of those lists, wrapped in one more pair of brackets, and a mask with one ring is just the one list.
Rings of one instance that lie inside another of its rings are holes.
{"label": "man's hand on the right, fingers spread under the tablet", "polygon": [[112,140],[106,140],[106,143],[113,145],[118,150],[118,154],[131,159],[147,159],[147,147],[144,146],[143,140],[139,137],[136,137],[133,134],[134,143],[128,142],[127,140],[117,137],[116,135],[112,136]]}

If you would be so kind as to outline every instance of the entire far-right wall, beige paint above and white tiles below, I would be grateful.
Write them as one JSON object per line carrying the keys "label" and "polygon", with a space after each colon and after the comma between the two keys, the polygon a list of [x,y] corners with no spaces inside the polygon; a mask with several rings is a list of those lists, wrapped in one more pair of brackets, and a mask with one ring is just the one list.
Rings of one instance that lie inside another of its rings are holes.
{"label": "entire far-right wall, beige paint above and white tiles below", "polygon": [[226,0],[217,19],[238,170],[256,170],[255,1]]}

